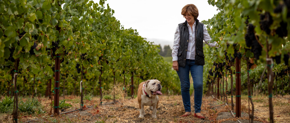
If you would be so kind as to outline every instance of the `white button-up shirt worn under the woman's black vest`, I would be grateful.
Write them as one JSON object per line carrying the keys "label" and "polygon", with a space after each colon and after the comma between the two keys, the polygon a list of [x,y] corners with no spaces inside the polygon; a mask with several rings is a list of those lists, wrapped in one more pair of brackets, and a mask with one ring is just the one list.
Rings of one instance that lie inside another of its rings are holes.
{"label": "white button-up shirt worn under the woman's black vest", "polygon": [[[195,59],[195,23],[193,24],[193,30],[191,30],[191,27],[188,23],[188,31],[189,31],[189,42],[188,42],[188,47],[187,47],[187,54],[186,54],[186,59]],[[206,25],[203,25],[203,40],[204,42],[211,46],[211,47],[216,47],[218,48],[218,43],[208,43],[208,41],[211,40],[211,37],[209,36],[209,33],[207,32]],[[174,34],[174,43],[173,43],[173,50],[172,50],[172,61],[177,61],[177,52],[178,48],[180,45],[180,32],[179,32],[179,27],[177,25],[176,31]]]}

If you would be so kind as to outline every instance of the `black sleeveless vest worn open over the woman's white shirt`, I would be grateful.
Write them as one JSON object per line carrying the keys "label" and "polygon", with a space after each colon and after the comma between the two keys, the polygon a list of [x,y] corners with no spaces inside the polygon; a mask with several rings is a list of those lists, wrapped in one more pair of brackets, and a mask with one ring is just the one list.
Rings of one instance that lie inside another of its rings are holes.
{"label": "black sleeveless vest worn open over the woman's white shirt", "polygon": [[[178,66],[185,66],[186,54],[189,41],[189,30],[187,27],[187,21],[178,24],[180,31],[180,46],[178,48]],[[203,23],[195,20],[195,64],[204,65],[203,54]]]}

